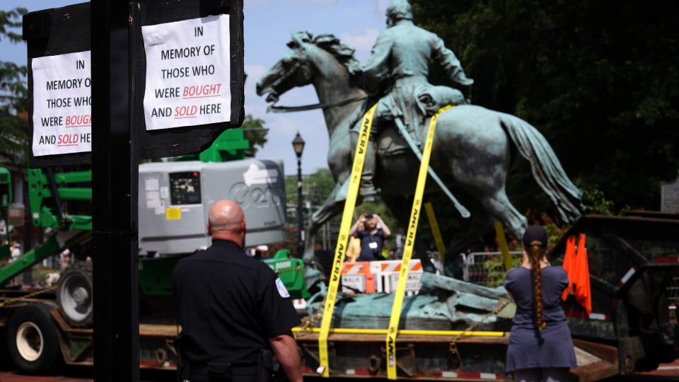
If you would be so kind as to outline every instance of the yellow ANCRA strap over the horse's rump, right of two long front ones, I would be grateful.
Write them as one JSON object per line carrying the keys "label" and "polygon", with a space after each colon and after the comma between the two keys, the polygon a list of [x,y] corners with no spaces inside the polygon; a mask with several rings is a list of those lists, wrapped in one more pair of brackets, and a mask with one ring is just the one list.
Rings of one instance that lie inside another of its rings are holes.
{"label": "yellow ANCRA strap over the horse's rump, right of two long front ones", "polygon": [[403,249],[403,260],[401,262],[401,270],[398,275],[398,286],[394,294],[394,304],[391,310],[391,318],[389,320],[389,328],[387,330],[387,378],[391,380],[396,379],[396,335],[398,330],[398,321],[401,316],[401,307],[403,304],[403,295],[405,294],[405,283],[408,279],[408,267],[410,266],[410,257],[412,257],[412,248],[415,242],[415,233],[417,233],[417,222],[422,207],[422,195],[424,194],[424,183],[426,182],[426,172],[429,168],[429,156],[431,156],[431,146],[434,144],[434,132],[436,130],[436,120],[442,112],[452,108],[448,105],[441,108],[436,114],[431,117],[429,122],[429,130],[426,132],[426,141],[424,142],[424,151],[422,151],[422,161],[419,163],[419,175],[417,175],[417,187],[415,187],[414,200],[412,202],[412,210],[410,212],[410,224],[405,236],[405,247]]}

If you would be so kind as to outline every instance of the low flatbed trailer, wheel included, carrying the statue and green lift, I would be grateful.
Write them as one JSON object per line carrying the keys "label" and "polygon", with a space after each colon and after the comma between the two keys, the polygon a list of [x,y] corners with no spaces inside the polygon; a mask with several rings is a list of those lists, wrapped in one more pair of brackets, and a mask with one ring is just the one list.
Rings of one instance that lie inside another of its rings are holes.
{"label": "low flatbed trailer, wheel included, carrying the statue and green lift", "polygon": [[[92,366],[94,362],[93,328],[74,328],[62,318],[56,296],[50,291],[21,299],[11,292],[13,302],[0,312],[17,313],[23,323],[12,323],[11,316],[1,317],[0,325],[23,325],[16,339],[16,349],[25,361],[17,366],[24,372],[44,374],[52,362]],[[26,293],[28,294],[28,293]],[[18,299],[18,300],[17,300]],[[0,303],[9,299],[0,299]],[[30,318],[26,318],[26,315]],[[173,340],[178,324],[169,316],[142,317],[139,325],[139,359],[142,369],[175,370],[177,353]],[[504,357],[509,332],[475,332],[455,340],[455,331],[402,330],[397,341],[399,379],[431,381],[504,381]],[[328,352],[332,378],[385,378],[386,330],[330,330]],[[318,328],[294,328],[294,336],[303,361],[305,376],[318,376]],[[36,348],[36,341],[40,347]],[[618,373],[617,348],[596,342],[574,340],[579,368],[572,370],[574,381],[598,381]]]}

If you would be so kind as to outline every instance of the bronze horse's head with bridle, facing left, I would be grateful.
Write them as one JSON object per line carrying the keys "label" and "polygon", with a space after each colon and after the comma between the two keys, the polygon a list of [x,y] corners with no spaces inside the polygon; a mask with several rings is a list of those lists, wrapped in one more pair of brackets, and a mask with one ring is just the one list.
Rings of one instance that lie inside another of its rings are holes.
{"label": "bronze horse's head with bridle, facing left", "polygon": [[311,43],[310,32],[293,33],[292,40],[288,42],[290,50],[257,81],[257,96],[268,93],[267,102],[276,102],[291,88],[311,83],[313,69],[307,57]]}

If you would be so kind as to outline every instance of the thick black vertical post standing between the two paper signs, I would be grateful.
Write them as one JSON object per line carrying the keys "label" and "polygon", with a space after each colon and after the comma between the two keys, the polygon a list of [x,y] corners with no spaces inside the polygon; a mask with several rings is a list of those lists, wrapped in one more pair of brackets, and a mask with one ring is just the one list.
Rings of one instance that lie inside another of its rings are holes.
{"label": "thick black vertical post standing between the two paper signs", "polygon": [[94,381],[139,381],[139,149],[132,6],[91,1]]}

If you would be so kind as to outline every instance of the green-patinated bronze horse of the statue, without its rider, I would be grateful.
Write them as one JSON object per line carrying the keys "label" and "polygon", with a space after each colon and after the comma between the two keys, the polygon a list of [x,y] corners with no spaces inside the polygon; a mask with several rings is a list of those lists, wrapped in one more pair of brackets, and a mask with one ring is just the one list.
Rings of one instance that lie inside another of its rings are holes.
{"label": "green-patinated bronze horse of the statue, without its rider", "polygon": [[[320,101],[316,106],[323,108],[330,136],[327,164],[336,185],[311,216],[303,260],[313,263],[316,232],[344,208],[356,144],[350,131],[370,105],[364,102],[366,92],[349,70],[359,65],[352,47],[333,35],[312,38],[308,32],[294,33],[288,46],[289,52],[257,81],[257,95],[267,94],[267,102],[276,103],[291,88],[313,84]],[[428,126],[426,120],[420,127],[420,137],[426,137]],[[376,138],[376,150],[375,185],[399,224],[407,226],[411,206],[407,195],[414,195],[419,159],[396,127],[383,129]],[[448,109],[436,123],[430,166],[450,190],[468,195],[471,221],[468,231],[446,251],[446,274],[453,271],[454,256],[492,229],[492,218],[521,240],[528,225],[526,217],[513,207],[505,191],[507,173],[518,157],[517,151],[530,162],[535,180],[554,202],[561,219],[569,223],[581,215],[581,192],[535,127],[513,115],[477,105]],[[426,183],[425,192],[440,191],[436,183]],[[361,195],[359,202],[360,198]],[[426,255],[420,258],[423,266],[431,265]]]}

